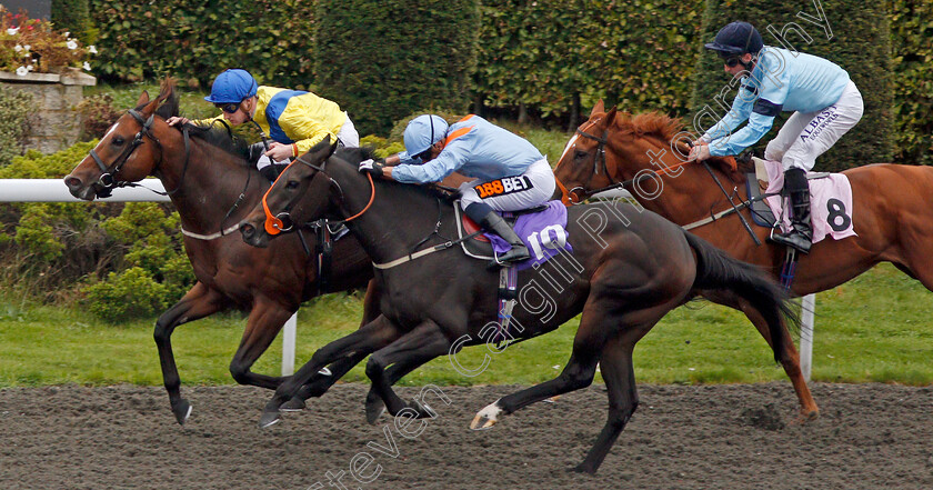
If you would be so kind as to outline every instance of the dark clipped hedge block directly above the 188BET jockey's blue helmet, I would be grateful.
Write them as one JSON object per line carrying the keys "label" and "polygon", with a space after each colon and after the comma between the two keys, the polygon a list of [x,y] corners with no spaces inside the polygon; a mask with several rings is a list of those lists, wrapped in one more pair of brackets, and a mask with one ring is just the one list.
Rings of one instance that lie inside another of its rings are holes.
{"label": "dark clipped hedge block directly above the 188BET jockey's blue helmet", "polygon": [[469,104],[478,0],[319,0],[317,17],[318,93],[345,108],[360,133]]}

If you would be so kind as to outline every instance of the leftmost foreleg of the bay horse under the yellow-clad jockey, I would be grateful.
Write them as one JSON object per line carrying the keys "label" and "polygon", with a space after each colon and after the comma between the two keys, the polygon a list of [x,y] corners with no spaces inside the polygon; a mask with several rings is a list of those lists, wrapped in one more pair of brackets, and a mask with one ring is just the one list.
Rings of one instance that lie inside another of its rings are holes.
{"label": "leftmost foreleg of the bay horse under the yellow-clad jockey", "polygon": [[159,363],[162,367],[162,380],[169,392],[169,401],[178,423],[184,424],[191,414],[191,404],[181,398],[181,378],[172,353],[171,337],[175,327],[189,321],[208,317],[225,308],[223,296],[202,282],[197,282],[179,302],[169,308],[156,321],[152,337],[159,349]]}

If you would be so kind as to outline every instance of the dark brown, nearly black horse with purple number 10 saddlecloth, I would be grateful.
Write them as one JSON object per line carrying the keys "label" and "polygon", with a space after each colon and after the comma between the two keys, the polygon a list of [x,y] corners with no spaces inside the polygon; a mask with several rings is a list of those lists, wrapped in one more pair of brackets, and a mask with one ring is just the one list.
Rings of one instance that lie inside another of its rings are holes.
{"label": "dark brown, nearly black horse with purple number 10 saddlecloth", "polygon": [[[381,314],[319,349],[279,386],[260,424],[278,420],[279,407],[319,369],[361,352],[372,353],[365,372],[389,413],[434,417],[418,400],[403,401],[391,384],[431,359],[493,340],[499,271],[458,251],[451,238],[457,237],[454,208],[447,196],[364,177],[357,164],[329,157],[330,151],[319,144],[284,170],[241,223],[243,239],[254,246],[269,244],[267,227],[277,219],[345,220],[375,263],[374,281],[383,292]],[[317,208],[292,207],[308,193],[321,197]],[[722,289],[754,304],[775,339],[775,359],[786,352],[780,332],[783,316],[793,314],[787,297],[754,267],[630,204],[571,207],[566,229],[572,253],[518,272],[523,286],[512,311],[514,328],[505,333],[515,340],[536,337],[582,312],[570,360],[555,379],[484,408],[472,427],[491,427],[501,416],[530,403],[584,388],[592,383],[600,363],[609,417],[585,460],[575,468],[595,472],[639,404],[632,367],[635,343],[696,290]]]}

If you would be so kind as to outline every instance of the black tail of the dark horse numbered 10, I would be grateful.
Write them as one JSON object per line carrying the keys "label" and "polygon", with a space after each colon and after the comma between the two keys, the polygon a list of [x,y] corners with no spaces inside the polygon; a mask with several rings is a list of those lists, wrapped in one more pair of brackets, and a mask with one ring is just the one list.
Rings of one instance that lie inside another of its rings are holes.
{"label": "black tail of the dark horse numbered 10", "polygon": [[694,289],[724,289],[749,301],[768,321],[774,360],[784,352],[784,323],[799,324],[790,296],[759,268],[728,256],[693,233],[684,231],[688,243],[696,252]]}

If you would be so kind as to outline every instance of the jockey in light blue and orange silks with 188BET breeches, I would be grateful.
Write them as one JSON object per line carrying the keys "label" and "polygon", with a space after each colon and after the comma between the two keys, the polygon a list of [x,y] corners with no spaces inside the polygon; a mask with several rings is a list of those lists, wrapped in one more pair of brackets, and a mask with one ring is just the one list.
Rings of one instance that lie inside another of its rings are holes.
{"label": "jockey in light blue and orange silks with 188BET breeches", "polygon": [[367,160],[360,171],[410,183],[437,182],[454,171],[474,177],[460,186],[463,211],[512,246],[499,256],[500,262],[530,257],[521,238],[494,211],[533,208],[553,196],[554,172],[533,144],[473,114],[450,126],[439,116],[419,116],[405,128],[404,142],[405,151],[384,161]]}

